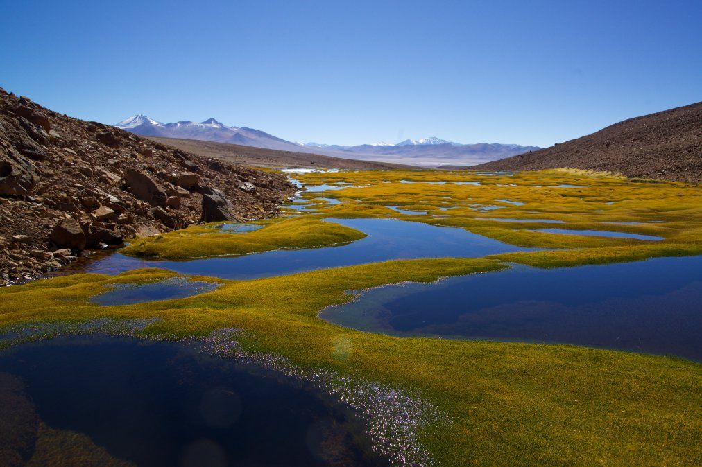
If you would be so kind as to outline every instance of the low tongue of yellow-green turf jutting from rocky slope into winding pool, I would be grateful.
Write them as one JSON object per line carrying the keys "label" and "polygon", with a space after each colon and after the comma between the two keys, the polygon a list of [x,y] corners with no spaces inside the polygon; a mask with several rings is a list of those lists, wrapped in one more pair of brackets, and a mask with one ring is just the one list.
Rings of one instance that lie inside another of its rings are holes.
{"label": "low tongue of yellow-green turf jutting from rocky slope into winding pool", "polygon": [[347,226],[301,216],[263,222],[262,229],[227,233],[221,222],[190,226],[157,237],[138,238],[122,252],[126,255],[184,259],[194,257],[244,255],[280,248],[313,248],[337,245],[364,238],[363,232]]}

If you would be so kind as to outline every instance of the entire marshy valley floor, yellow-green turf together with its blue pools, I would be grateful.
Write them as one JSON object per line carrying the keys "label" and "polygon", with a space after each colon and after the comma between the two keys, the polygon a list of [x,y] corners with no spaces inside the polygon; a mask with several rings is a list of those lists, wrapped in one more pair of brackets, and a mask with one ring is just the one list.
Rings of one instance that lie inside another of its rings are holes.
{"label": "entire marshy valley floor, yellow-green turf together with its blue pools", "polygon": [[[230,464],[699,460],[698,186],[579,170],[291,173],[311,189],[283,217],[138,238],[0,290],[0,371],[44,438],[69,431],[134,463],[150,449],[176,462],[193,442]],[[145,324],[46,332],[94,320]],[[243,367],[179,344],[221,330],[237,330]],[[109,368],[133,391],[108,388]],[[163,386],[175,389],[154,400]],[[212,431],[192,418],[210,391],[248,412]],[[148,423],[114,409],[130,405]],[[135,440],[166,414],[155,444]],[[53,452],[44,438],[18,455]]]}

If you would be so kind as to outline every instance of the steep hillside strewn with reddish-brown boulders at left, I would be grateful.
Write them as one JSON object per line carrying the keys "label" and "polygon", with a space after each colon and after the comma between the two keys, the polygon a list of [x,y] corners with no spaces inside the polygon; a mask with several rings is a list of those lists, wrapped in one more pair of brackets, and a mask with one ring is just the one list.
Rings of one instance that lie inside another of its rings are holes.
{"label": "steep hillside strewn with reddish-brown boulders at left", "polygon": [[0,88],[0,285],[124,238],[270,217],[294,191],[282,175],[72,119]]}

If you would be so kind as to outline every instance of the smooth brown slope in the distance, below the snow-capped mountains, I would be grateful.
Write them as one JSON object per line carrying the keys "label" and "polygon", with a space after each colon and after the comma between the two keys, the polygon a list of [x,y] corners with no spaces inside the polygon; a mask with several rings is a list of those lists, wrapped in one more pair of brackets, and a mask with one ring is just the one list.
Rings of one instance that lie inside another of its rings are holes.
{"label": "smooth brown slope in the distance, below the snow-capped mountains", "polygon": [[409,165],[356,161],[339,157],[322,156],[304,152],[280,151],[260,147],[241,146],[221,142],[201,140],[181,140],[178,138],[148,137],[150,140],[199,154],[216,157],[224,161],[267,168],[344,168],[344,169],[392,169],[411,168]]}

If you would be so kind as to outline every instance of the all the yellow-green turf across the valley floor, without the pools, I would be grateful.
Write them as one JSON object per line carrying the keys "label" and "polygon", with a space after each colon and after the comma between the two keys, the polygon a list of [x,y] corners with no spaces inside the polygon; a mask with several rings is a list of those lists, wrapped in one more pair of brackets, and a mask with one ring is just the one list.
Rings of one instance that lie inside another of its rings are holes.
{"label": "all the yellow-green turf across the valley floor, without the pools", "polygon": [[[638,183],[578,170],[513,176],[430,170],[317,172],[296,177],[309,185],[346,182],[355,187],[303,194],[314,205],[312,214],[263,222],[258,231],[227,234],[213,225],[194,226],[139,239],[125,252],[161,258],[237,255],[364,236],[322,220],[331,217],[397,217],[555,250],[383,262],[256,280],[198,277],[223,286],[186,299],[131,306],[98,306],[89,297],[117,282],[158,280],[175,273],[140,269],[119,276],[64,276],[0,290],[0,327],[111,316],[161,318],[147,327],[147,334],[203,335],[223,327],[241,328],[246,330],[242,344],[250,351],[418,389],[451,419],[451,424],[427,426],[420,433],[420,441],[444,466],[702,463],[698,363],[567,345],[390,337],[317,318],[325,306],[350,300],[348,290],[491,273],[509,267],[508,262],[561,267],[700,255],[700,187]],[[330,205],[320,196],[341,203]],[[525,204],[499,201],[503,199]],[[427,214],[401,215],[388,205]],[[484,206],[500,208],[478,210]],[[495,217],[520,220],[490,220]],[[540,219],[563,223],[534,222]],[[623,231],[663,240],[533,231],[547,227]],[[343,356],[335,351],[338,339],[350,343]]]}

